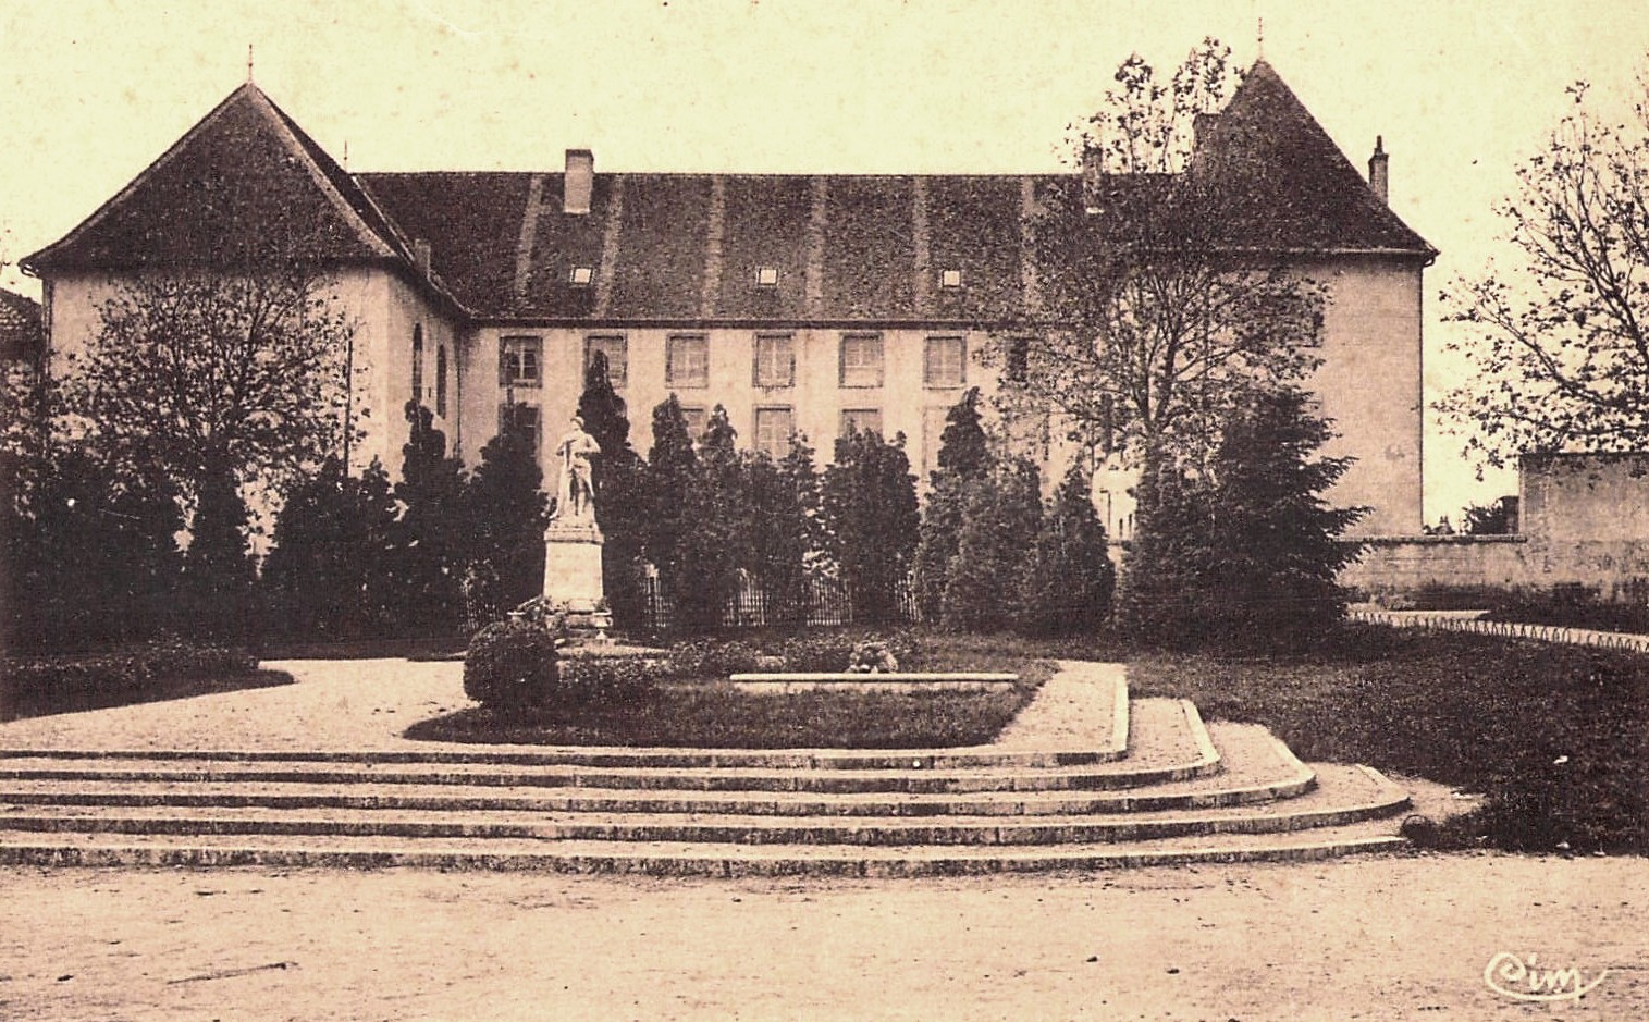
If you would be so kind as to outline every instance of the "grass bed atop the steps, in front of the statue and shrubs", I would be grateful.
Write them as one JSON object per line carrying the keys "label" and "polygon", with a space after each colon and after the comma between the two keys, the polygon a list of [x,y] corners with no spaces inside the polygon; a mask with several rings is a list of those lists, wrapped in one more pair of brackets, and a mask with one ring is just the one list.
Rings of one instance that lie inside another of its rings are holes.
{"label": "grass bed atop the steps, in front of the statue and shrubs", "polygon": [[989,636],[923,636],[920,671],[1012,671],[1004,692],[740,692],[686,679],[645,697],[566,707],[554,715],[460,710],[407,729],[429,742],[702,748],[947,748],[981,745],[1054,674],[1022,646]]}

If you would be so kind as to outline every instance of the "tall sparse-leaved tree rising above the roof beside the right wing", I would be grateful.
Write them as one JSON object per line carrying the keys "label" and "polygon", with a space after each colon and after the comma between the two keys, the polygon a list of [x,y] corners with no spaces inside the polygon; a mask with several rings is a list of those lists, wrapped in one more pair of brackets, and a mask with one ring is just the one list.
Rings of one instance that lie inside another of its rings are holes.
{"label": "tall sparse-leaved tree rising above the roof beside the right wing", "polygon": [[1082,175],[1047,191],[1027,223],[1039,310],[986,349],[1011,419],[1052,415],[1133,463],[1153,447],[1200,460],[1250,389],[1316,364],[1321,288],[1240,234],[1265,168],[1197,145],[1199,117],[1237,77],[1214,40],[1166,79],[1133,56],[1073,130]]}

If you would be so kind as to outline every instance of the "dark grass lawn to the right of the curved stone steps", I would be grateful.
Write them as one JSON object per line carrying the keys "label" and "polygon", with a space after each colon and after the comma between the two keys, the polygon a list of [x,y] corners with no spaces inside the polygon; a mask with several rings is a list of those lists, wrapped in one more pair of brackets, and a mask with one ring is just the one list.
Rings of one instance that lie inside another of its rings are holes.
{"label": "dark grass lawn to the right of the curved stone steps", "polygon": [[1308,760],[1486,795],[1443,846],[1649,854],[1649,656],[1374,626],[1324,646],[1139,654],[1130,686],[1263,724]]}

